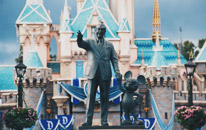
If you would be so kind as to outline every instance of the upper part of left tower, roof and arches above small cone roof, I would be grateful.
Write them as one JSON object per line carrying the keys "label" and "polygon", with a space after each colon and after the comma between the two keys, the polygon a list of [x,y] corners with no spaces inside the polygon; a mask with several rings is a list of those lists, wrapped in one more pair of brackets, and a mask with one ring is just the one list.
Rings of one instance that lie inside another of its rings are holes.
{"label": "upper part of left tower, roof and arches above small cone roof", "polygon": [[23,57],[27,57],[31,48],[35,48],[43,67],[47,66],[49,53],[50,26],[52,20],[42,0],[27,0],[17,21],[17,36],[23,46]]}

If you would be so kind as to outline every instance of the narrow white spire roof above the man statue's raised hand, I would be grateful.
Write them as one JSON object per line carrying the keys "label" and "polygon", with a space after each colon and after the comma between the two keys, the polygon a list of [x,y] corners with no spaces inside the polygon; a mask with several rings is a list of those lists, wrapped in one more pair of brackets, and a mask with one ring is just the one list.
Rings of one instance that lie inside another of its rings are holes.
{"label": "narrow white spire roof above the man statue's raised hand", "polygon": [[67,0],[65,0],[63,19],[60,24],[59,32],[73,32],[71,23],[72,21],[70,20],[70,13],[68,11]]}

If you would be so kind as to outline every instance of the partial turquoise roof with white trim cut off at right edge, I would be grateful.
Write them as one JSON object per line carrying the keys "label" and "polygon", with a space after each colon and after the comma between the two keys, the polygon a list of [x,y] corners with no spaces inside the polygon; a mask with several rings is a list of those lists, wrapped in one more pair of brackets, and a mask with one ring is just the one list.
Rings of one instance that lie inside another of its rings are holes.
{"label": "partial turquoise roof with white trim cut off at right edge", "polygon": [[200,53],[195,58],[196,63],[206,63],[206,42],[200,50]]}

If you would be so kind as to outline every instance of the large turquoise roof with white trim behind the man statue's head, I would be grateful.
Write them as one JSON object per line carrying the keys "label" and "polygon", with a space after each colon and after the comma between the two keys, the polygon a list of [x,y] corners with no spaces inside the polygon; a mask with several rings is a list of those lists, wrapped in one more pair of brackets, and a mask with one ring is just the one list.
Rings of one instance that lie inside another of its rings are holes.
{"label": "large turquoise roof with white trim behind the man statue's head", "polygon": [[87,37],[87,23],[93,18],[93,12],[97,12],[99,15],[99,21],[104,22],[106,25],[106,34],[105,38],[119,38],[117,31],[119,25],[112,15],[107,3],[105,0],[86,0],[72,22],[72,27],[74,35],[72,38],[76,38],[76,33],[80,30],[83,33],[83,37]]}

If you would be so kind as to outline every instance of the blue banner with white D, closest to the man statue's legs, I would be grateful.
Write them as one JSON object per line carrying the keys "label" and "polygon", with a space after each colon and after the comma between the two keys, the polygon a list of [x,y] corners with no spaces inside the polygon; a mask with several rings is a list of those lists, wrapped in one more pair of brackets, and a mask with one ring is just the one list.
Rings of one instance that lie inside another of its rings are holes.
{"label": "blue banner with white D, closest to the man statue's legs", "polygon": [[74,116],[73,115],[56,115],[56,119],[59,120],[59,125],[63,128],[63,129],[67,129],[67,130],[71,130],[72,129],[72,125],[74,122]]}

